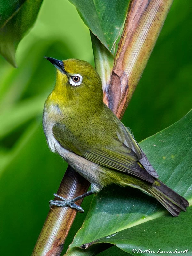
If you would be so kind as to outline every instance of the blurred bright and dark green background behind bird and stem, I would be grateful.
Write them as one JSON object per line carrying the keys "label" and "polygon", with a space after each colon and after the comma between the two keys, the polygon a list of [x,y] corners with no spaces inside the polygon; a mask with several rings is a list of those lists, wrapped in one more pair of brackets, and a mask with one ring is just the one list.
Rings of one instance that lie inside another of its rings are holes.
{"label": "blurred bright and dark green background behind bird and stem", "polygon": [[[191,15],[190,0],[174,1],[123,117],[138,142],[191,108]],[[0,57],[0,255],[31,254],[67,166],[49,152],[42,129],[44,101],[55,81],[55,69],[43,56],[94,65],[89,30],[67,0],[43,1],[35,26],[19,44],[17,69]],[[84,200],[86,212],[90,200]],[[65,248],[85,214],[77,214]],[[100,256],[127,255],[118,250]]]}

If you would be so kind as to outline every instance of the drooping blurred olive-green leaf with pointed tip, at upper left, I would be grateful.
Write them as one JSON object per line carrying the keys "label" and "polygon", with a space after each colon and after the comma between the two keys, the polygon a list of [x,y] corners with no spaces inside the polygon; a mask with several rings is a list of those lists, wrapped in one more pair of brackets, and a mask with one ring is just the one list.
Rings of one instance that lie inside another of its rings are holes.
{"label": "drooping blurred olive-green leaf with pointed tip, at upper left", "polygon": [[19,12],[0,29],[0,53],[14,67],[17,46],[35,22],[41,3],[42,0],[26,1]]}

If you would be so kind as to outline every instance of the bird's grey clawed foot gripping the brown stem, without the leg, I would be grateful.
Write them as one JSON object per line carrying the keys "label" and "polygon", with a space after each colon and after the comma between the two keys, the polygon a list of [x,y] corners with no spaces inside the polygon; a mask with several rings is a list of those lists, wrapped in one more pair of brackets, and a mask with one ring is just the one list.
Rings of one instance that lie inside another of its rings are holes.
{"label": "bird's grey clawed foot gripping the brown stem, without the leg", "polygon": [[60,198],[62,201],[59,200],[51,200],[49,201],[49,207],[52,210],[52,206],[58,206],[58,207],[65,207],[69,206],[73,209],[76,209],[78,212],[84,212],[84,210],[77,204],[74,203],[73,199],[66,199],[62,196],[59,196],[57,194],[54,194],[55,197]]}

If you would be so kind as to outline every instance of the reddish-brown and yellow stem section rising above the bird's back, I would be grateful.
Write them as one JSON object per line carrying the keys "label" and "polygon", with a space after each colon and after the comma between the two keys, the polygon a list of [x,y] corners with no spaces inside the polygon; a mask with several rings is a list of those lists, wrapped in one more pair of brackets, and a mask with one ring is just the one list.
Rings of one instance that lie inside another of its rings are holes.
{"label": "reddish-brown and yellow stem section rising above the bird's back", "polygon": [[109,107],[122,118],[161,32],[173,0],[131,0],[106,89]]}

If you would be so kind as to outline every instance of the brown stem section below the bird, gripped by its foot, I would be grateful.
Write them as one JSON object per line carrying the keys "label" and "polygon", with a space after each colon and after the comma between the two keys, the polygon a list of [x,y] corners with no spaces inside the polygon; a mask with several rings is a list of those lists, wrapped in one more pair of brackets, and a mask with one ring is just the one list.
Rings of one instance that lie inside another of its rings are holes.
{"label": "brown stem section below the bird, gripped by its foot", "polygon": [[[68,166],[57,194],[65,198],[75,198],[84,194],[89,185],[87,180]],[[81,202],[82,199],[76,203],[80,205]],[[50,210],[32,255],[59,256],[76,214],[77,210],[70,207],[54,207]]]}

